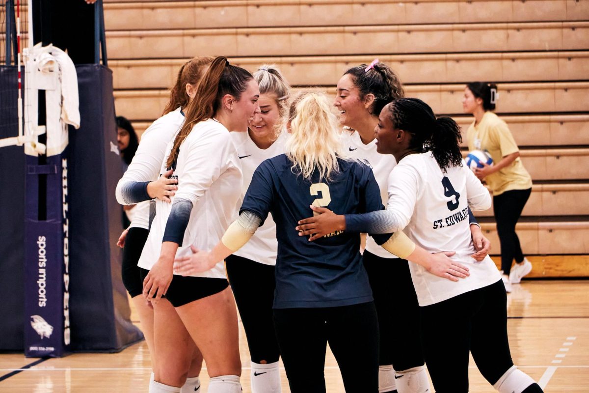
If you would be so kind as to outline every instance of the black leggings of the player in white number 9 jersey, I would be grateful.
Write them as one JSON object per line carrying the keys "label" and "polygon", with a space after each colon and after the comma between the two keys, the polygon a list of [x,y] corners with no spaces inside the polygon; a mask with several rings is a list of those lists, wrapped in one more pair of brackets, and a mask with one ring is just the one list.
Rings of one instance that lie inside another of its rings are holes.
{"label": "black leggings of the player in white number 9 jersey", "polygon": [[423,352],[436,393],[468,392],[468,352],[493,385],[513,365],[502,280],[421,307]]}

